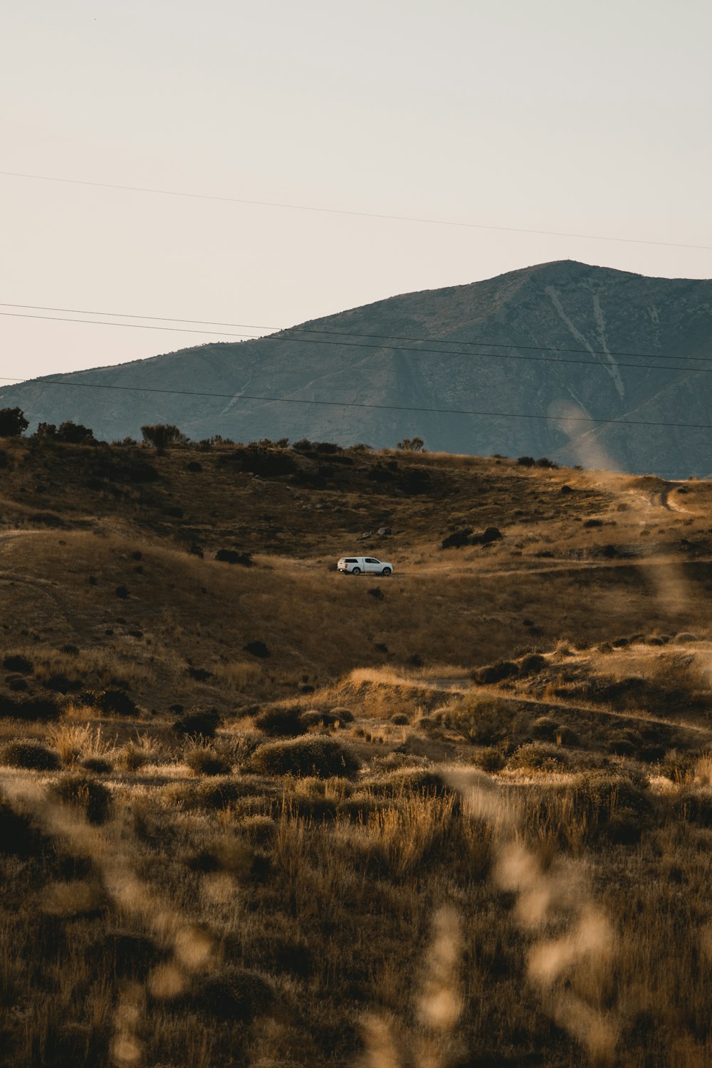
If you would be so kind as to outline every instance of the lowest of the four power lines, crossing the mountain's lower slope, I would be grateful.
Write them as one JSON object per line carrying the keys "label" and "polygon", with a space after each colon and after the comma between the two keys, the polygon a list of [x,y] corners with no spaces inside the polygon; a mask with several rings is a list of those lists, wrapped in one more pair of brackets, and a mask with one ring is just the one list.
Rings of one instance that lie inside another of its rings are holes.
{"label": "lowest of the four power lines, crossing the mountain's lower slope", "polygon": [[[0,381],[4,382],[22,382],[22,378],[7,378],[0,376]],[[496,417],[497,419],[536,419],[545,420],[548,422],[566,422],[566,423],[616,423],[619,426],[665,426],[665,427],[679,427],[692,430],[712,430],[712,423],[668,423],[668,422],[658,422],[652,420],[620,420],[620,419],[595,419],[591,415],[539,415],[533,412],[512,412],[512,411],[480,411],[473,408],[421,408],[413,407],[410,405],[392,405],[392,404],[368,404],[366,402],[355,402],[355,400],[307,400],[303,397],[265,397],[265,396],[254,396],[250,393],[209,393],[202,392],[197,390],[167,390],[157,389],[149,386],[110,386],[100,382],[77,382],[77,381],[62,381],[60,379],[34,379],[33,384],[36,386],[76,386],[84,389],[95,389],[95,390],[124,390],[131,393],[169,393],[178,396],[191,396],[191,397],[218,397],[220,399],[230,400],[265,400],[270,404],[311,404],[311,405],[322,405],[331,408],[369,408],[378,409],[380,411],[416,411],[425,412],[428,414],[436,415],[487,415]]]}

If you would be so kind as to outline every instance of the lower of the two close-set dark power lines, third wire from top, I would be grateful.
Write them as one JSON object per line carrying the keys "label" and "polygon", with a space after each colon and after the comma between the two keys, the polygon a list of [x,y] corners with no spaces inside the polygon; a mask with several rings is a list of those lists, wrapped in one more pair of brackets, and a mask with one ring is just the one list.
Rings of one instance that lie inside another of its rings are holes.
{"label": "lower of the two close-set dark power lines, third wire from top", "polygon": [[[369,345],[368,343],[364,344],[363,342],[327,341],[327,340],[322,340],[322,339],[318,339],[318,337],[294,337],[294,336],[284,336],[284,335],[280,336],[278,334],[269,334],[266,337],[265,336],[263,336],[263,337],[255,337],[253,334],[231,333],[231,332],[224,331],[224,330],[191,330],[191,329],[187,329],[186,327],[161,327],[161,326],[155,326],[153,324],[144,324],[144,323],[105,323],[105,321],[101,321],[100,319],[75,319],[75,318],[67,318],[67,317],[57,316],[57,315],[31,315],[31,314],[25,313],[25,312],[0,312],[0,315],[10,316],[11,318],[20,318],[20,319],[41,319],[43,321],[49,321],[49,323],[82,323],[82,324],[85,324],[88,326],[124,327],[124,328],[130,329],[130,330],[167,330],[167,331],[173,332],[173,333],[204,334],[206,336],[207,335],[212,335],[212,336],[217,336],[217,337],[240,337],[241,340],[249,340],[249,341],[269,341],[269,342],[282,342],[282,343],[286,342],[286,343],[291,343],[291,344],[294,344],[295,341],[297,341],[300,345],[332,345],[332,346],[333,345],[341,345],[343,348],[387,349],[391,352],[413,352],[415,355],[428,354],[430,356],[466,356],[466,357],[475,357],[475,358],[481,359],[481,360],[519,360],[519,361],[524,361],[526,363],[570,363],[570,364],[579,364],[579,365],[583,365],[583,366],[601,367],[603,370],[607,370],[606,365],[604,363],[601,363],[600,360],[571,360],[569,358],[555,359],[554,357],[551,357],[551,356],[515,356],[515,355],[512,355],[510,352],[460,352],[460,351],[457,351],[456,349],[453,349],[453,348],[423,348],[423,347],[420,347],[420,348],[410,348],[410,347],[404,346],[404,345],[380,345],[380,344],[379,345]],[[329,334],[330,331],[327,330],[327,331],[325,331],[325,333]],[[349,334],[345,334],[343,336],[347,336],[348,337]],[[379,335],[378,334],[353,334],[351,336],[377,337]],[[386,335],[383,335],[383,336],[386,336]],[[413,340],[416,340],[416,339],[413,339]],[[428,341],[428,339],[424,339],[424,341]],[[430,344],[432,344],[433,343],[433,339],[429,339],[429,342],[430,342]],[[436,343],[438,343],[438,342],[436,341]],[[489,345],[489,342],[440,342],[438,344],[443,344],[443,345],[444,344],[456,344],[456,345]],[[585,354],[591,355],[591,356],[596,355],[596,350],[594,350],[592,352],[590,352],[588,349],[557,349],[557,348],[547,347],[547,346],[542,346],[541,348],[537,348],[537,346],[534,346],[534,345],[522,345],[522,346],[511,345],[510,346],[510,345],[505,345],[505,343],[499,343],[499,342],[494,342],[493,344],[495,344],[495,345],[502,344],[503,347],[507,347],[507,348],[520,348],[520,347],[524,348],[524,349],[526,349],[526,348],[536,348],[537,351],[541,351],[541,350],[543,350],[543,351],[552,351],[552,352],[568,352],[568,351],[573,351],[573,352],[582,352],[582,354],[585,352]],[[636,354],[636,352],[631,352],[631,354],[624,354],[624,352],[612,354],[612,352],[605,352],[603,350],[598,350],[598,351],[599,351],[599,355],[601,355],[601,356],[613,356],[613,355],[616,355],[616,356],[627,356],[627,355],[631,355],[631,356],[635,357],[635,356],[639,355],[639,354]],[[649,355],[650,355],[650,358],[652,358],[652,354],[649,354]],[[698,356],[691,356],[691,357],[686,357],[686,356],[664,357],[664,356],[661,356],[660,359],[697,360],[697,361],[706,360],[707,362],[710,362],[706,357],[698,357]],[[638,368],[640,371],[678,371],[678,372],[694,371],[694,372],[698,372],[700,374],[712,374],[712,368],[711,367],[687,367],[687,366],[679,367],[679,366],[670,366],[668,364],[616,363],[616,367],[635,367],[635,368]]]}

